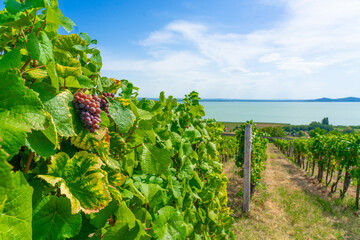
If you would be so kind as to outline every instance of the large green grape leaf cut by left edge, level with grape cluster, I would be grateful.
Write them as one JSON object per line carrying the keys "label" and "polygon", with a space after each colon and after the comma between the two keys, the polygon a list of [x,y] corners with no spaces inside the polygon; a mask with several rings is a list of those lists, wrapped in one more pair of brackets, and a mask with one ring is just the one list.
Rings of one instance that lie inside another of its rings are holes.
{"label": "large green grape leaf cut by left edge, level with grape cluster", "polygon": [[24,80],[0,73],[0,138],[2,148],[15,155],[25,144],[26,133],[44,129],[46,114],[37,94]]}

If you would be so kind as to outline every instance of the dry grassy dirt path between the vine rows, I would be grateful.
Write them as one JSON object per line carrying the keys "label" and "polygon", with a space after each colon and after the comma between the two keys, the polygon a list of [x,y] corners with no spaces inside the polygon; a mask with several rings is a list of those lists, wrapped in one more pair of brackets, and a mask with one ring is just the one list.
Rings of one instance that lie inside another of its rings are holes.
{"label": "dry grassy dirt path between the vine rows", "polygon": [[327,198],[273,145],[268,145],[263,184],[251,201],[250,214],[241,214],[242,179],[233,162],[225,163],[229,177],[229,206],[234,210],[237,239],[360,239],[360,218],[349,207]]}

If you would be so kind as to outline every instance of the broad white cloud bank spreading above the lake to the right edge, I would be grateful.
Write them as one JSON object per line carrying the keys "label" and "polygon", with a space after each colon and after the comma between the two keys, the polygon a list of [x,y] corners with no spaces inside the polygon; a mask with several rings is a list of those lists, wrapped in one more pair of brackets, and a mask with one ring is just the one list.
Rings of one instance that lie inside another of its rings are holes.
{"label": "broad white cloud bank spreading above the lake to the right edge", "polygon": [[[157,96],[164,89],[175,96],[195,89],[203,97],[228,98],[356,95],[357,79],[339,78],[360,62],[360,1],[266,3],[285,7],[287,18],[247,34],[174,21],[140,41],[147,58],[127,60],[108,54],[104,70],[126,73],[144,96]],[[354,87],[344,88],[345,82]]]}

